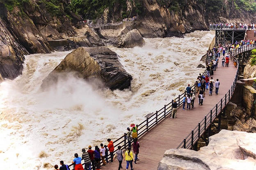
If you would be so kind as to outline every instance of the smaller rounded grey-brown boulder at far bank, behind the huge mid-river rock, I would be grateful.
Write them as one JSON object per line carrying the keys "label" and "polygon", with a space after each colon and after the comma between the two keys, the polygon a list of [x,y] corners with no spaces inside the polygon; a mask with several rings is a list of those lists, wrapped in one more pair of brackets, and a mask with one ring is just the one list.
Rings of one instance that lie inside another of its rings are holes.
{"label": "smaller rounded grey-brown boulder at far bank, behind the huge mid-river rock", "polygon": [[137,29],[133,29],[129,31],[127,34],[121,35],[119,39],[120,40],[117,47],[121,48],[133,48],[136,46],[142,47],[145,44],[142,35],[139,33]]}

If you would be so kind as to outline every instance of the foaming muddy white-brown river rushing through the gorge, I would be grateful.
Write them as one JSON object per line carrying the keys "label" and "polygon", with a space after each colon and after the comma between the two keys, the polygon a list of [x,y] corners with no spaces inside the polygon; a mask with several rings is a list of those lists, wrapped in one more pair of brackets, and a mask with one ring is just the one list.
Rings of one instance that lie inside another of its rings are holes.
{"label": "foaming muddy white-brown river rushing through the gorge", "polygon": [[195,31],[185,38],[145,38],[144,47],[109,47],[133,77],[123,91],[95,89],[75,77],[42,91],[43,79],[71,51],[26,56],[23,74],[0,84],[1,169],[54,169],[88,145],[119,138],[130,123],[140,123],[194,83],[213,37]]}

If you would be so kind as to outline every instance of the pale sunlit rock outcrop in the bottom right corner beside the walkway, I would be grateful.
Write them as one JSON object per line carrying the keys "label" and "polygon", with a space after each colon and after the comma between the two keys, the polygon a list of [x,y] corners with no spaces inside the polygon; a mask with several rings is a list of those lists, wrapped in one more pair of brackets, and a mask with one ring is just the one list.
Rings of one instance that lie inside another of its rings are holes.
{"label": "pale sunlit rock outcrop in the bottom right corner beside the walkway", "polygon": [[[249,139],[249,140],[248,140]],[[158,170],[242,170],[256,164],[256,134],[222,130],[210,136],[208,146],[199,151],[170,149],[160,161]]]}

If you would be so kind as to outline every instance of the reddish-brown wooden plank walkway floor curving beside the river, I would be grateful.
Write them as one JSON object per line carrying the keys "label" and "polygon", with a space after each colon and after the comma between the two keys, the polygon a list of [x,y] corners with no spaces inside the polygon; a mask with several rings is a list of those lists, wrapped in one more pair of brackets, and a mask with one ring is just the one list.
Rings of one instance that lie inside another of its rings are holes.
{"label": "reddish-brown wooden plank walkway floor curving beside the river", "polygon": [[[212,96],[209,96],[209,91],[206,90],[206,98],[203,101],[203,105],[198,105],[198,99],[196,98],[194,108],[191,108],[190,111],[182,110],[182,106],[179,107],[176,119],[171,119],[169,118],[170,115],[168,115],[165,120],[149,130],[148,133],[139,137],[139,160],[137,164],[133,163],[134,170],[157,170],[158,163],[163,158],[165,151],[177,148],[191,130],[225,96],[233,84],[237,70],[237,67],[234,67],[232,62],[229,64],[229,67],[221,67],[220,58],[217,71],[214,72],[214,81],[218,78],[220,82],[218,95],[215,94],[215,89]],[[118,165],[119,162],[115,160],[113,163],[102,167],[101,170],[117,170]],[[126,169],[126,161],[123,161],[122,166],[123,169]]]}

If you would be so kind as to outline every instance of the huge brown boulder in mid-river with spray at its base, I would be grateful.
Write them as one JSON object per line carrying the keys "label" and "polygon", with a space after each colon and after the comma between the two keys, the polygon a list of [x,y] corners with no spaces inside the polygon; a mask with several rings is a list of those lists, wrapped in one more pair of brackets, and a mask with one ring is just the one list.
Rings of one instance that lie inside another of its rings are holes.
{"label": "huge brown boulder in mid-river with spray at its base", "polygon": [[79,47],[70,54],[43,80],[42,87],[55,82],[59,73],[76,72],[89,81],[100,79],[110,89],[130,87],[132,76],[123,69],[115,52],[107,47]]}

